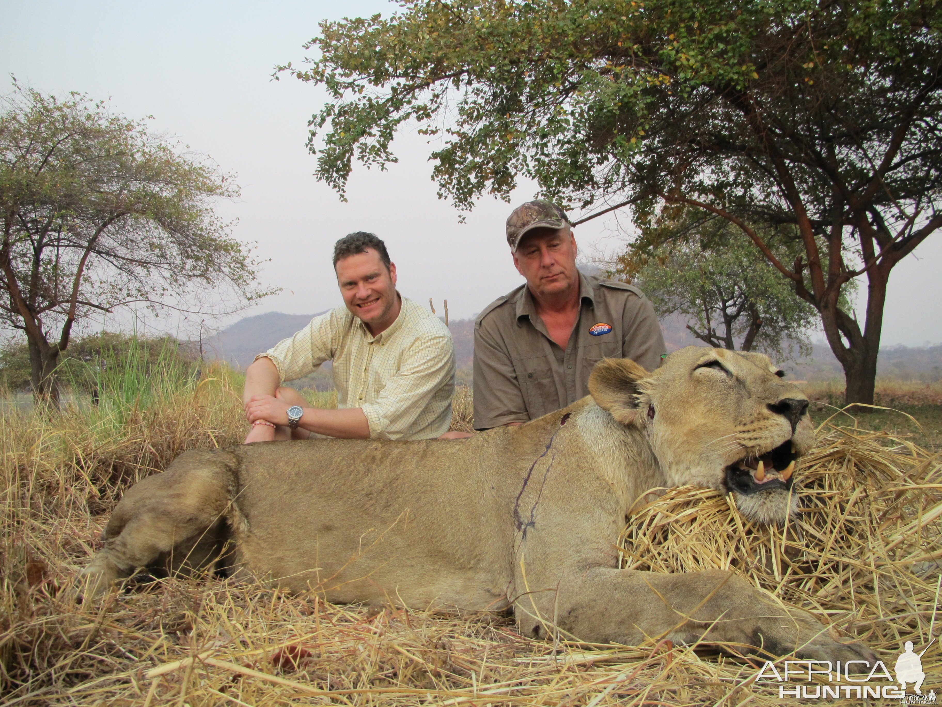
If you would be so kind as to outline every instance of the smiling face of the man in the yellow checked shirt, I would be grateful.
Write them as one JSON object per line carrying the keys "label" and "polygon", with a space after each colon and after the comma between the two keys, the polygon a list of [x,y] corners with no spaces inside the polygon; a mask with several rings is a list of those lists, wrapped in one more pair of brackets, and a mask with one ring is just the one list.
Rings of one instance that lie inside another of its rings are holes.
{"label": "smiling face of the man in the yellow checked shirt", "polygon": [[376,326],[385,328],[392,323],[386,320],[397,304],[394,263],[390,263],[387,269],[380,254],[367,248],[365,253],[338,260],[335,270],[344,304],[354,316],[371,330]]}

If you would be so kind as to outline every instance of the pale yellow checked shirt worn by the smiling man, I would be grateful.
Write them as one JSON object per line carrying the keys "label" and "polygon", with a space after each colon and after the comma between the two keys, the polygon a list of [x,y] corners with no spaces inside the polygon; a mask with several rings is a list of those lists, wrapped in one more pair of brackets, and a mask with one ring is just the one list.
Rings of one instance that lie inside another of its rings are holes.
{"label": "pale yellow checked shirt worn by the smiling man", "polygon": [[265,354],[281,381],[333,359],[338,407],[360,407],[373,439],[430,439],[451,423],[455,346],[437,317],[402,298],[396,321],[373,337],[346,306],[332,309]]}

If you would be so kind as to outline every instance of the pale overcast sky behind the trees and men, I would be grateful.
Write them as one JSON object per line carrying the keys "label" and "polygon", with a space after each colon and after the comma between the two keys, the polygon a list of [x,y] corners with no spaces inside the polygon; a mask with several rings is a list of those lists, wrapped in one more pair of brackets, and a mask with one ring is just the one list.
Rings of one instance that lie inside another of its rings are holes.
{"label": "pale overcast sky behind the trees and men", "polygon": [[[387,172],[354,167],[349,202],[312,176],[307,120],[326,96],[272,68],[304,57],[317,23],[340,15],[387,13],[386,2],[127,3],[0,0],[0,70],[32,88],[78,90],[110,99],[115,112],[153,115],[154,130],[186,142],[237,173],[241,197],[219,212],[237,219],[235,236],[258,243],[270,262],[267,286],[284,288],[245,314],[318,312],[341,304],[331,266],[333,242],[352,231],[386,241],[407,297],[470,317],[521,284],[504,237],[512,206],[482,200],[459,222],[435,196],[430,146],[414,133],[396,143]],[[0,84],[7,92],[9,84]],[[513,205],[533,197],[522,183]],[[574,220],[578,214],[570,214]],[[628,223],[627,215],[620,221]],[[583,250],[611,251],[618,223],[602,217],[577,228]],[[893,271],[885,345],[942,341],[942,237],[923,243]],[[439,309],[441,313],[441,309]]]}

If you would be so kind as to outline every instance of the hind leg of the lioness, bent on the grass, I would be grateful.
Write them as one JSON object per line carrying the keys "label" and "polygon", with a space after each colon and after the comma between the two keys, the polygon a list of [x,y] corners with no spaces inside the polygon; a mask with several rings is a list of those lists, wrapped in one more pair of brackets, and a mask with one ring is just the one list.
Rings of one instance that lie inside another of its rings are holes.
{"label": "hind leg of the lioness, bent on the grass", "polygon": [[82,572],[86,594],[102,594],[138,567],[191,571],[214,560],[236,464],[231,452],[194,450],[129,488],[105,528],[105,547]]}

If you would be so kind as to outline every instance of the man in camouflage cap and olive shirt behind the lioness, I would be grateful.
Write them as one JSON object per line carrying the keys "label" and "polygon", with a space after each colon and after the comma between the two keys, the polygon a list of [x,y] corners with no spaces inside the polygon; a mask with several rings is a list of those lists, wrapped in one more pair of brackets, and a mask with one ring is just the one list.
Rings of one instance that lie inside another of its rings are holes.
{"label": "man in camouflage cap and olive shirt behind the lioness", "polygon": [[664,354],[658,317],[642,291],[576,267],[572,223],[532,201],[507,220],[513,265],[527,282],[484,308],[474,332],[474,424],[520,424],[589,394],[602,358],[654,370]]}

